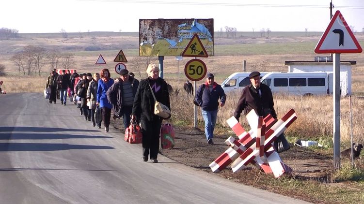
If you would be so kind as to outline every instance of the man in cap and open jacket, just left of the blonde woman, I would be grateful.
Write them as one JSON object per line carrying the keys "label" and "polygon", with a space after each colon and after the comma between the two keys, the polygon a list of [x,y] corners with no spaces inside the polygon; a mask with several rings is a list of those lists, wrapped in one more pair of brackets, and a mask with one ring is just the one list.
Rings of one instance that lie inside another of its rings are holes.
{"label": "man in cap and open jacket, just left of the blonde woman", "polygon": [[120,71],[120,80],[114,83],[106,92],[109,102],[112,104],[114,119],[123,117],[124,128],[130,125],[130,115],[133,109],[134,97],[139,81],[129,76],[129,71]]}

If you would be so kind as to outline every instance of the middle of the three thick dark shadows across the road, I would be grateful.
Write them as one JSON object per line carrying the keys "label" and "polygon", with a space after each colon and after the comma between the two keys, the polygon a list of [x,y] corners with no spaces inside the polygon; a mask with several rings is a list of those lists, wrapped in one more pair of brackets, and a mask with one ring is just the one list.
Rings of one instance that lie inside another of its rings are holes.
{"label": "middle of the three thick dark shadows across the road", "polygon": [[110,136],[92,136],[78,134],[31,134],[31,133],[0,133],[0,140],[59,140],[59,139],[108,139]]}

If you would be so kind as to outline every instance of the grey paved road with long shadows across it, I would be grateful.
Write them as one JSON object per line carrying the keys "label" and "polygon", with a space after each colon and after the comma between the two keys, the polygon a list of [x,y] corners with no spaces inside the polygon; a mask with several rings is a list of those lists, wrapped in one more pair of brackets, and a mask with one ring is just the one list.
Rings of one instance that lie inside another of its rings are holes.
{"label": "grey paved road with long shadows across it", "polygon": [[[102,130],[102,129],[101,129]],[[300,204],[159,156],[41,93],[0,95],[1,204]]]}

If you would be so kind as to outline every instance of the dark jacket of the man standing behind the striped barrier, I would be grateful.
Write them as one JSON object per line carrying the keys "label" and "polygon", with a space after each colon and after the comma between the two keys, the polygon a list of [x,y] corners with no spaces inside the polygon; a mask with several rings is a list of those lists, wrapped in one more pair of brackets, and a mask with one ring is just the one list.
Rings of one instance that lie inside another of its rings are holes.
{"label": "dark jacket of the man standing behind the striped barrier", "polygon": [[258,116],[266,117],[270,114],[273,118],[277,118],[277,114],[273,107],[273,95],[270,88],[265,84],[260,84],[259,89],[262,93],[261,97],[252,84],[243,88],[241,97],[237,102],[237,108],[234,112],[234,117],[236,117],[237,120],[243,110],[244,115],[247,115],[253,109]]}

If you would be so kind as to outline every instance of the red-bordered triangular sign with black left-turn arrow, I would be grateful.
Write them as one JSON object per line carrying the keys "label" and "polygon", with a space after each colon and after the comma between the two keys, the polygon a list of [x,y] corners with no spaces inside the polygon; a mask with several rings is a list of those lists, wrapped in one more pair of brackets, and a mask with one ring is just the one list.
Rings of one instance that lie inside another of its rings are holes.
{"label": "red-bordered triangular sign with black left-turn arrow", "polygon": [[341,15],[340,11],[336,11],[329,26],[318,41],[315,52],[361,53],[362,51],[362,47],[356,40],[343,15]]}

